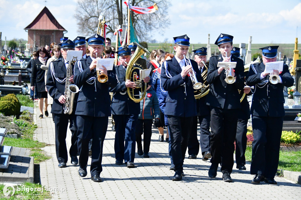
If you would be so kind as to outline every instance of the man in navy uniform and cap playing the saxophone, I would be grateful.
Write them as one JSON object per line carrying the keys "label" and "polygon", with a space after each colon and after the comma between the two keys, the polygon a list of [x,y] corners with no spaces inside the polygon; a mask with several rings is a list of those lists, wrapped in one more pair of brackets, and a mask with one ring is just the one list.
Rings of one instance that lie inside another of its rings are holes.
{"label": "man in navy uniform and cap playing the saxophone", "polygon": [[[70,120],[69,129],[72,133],[71,136],[71,147],[69,154],[71,157],[71,164],[77,165],[77,127],[76,127],[76,101],[77,94],[74,98],[73,103],[73,113],[64,114],[64,104],[66,103],[65,92],[65,81],[67,77],[67,67],[68,62],[66,61],[67,50],[74,50],[75,43],[71,40],[65,40],[61,44],[61,54],[63,59],[58,59],[52,61],[47,72],[47,82],[46,88],[49,95],[53,98],[53,104],[51,107],[51,113],[54,118],[55,123],[55,150],[57,155],[57,161],[59,162],[58,167],[63,168],[67,167],[66,163],[68,161],[68,153],[66,146],[66,136],[67,136],[67,127]],[[72,67],[73,69],[73,67]],[[73,75],[69,79],[70,82],[73,82]]]}

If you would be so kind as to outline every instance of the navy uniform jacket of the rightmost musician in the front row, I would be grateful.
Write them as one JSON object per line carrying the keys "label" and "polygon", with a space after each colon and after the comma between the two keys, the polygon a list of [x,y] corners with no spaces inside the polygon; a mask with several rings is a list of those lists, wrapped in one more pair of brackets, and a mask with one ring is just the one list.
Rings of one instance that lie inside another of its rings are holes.
{"label": "navy uniform jacket of the rightmost musician in the front row", "polygon": [[[262,63],[254,64],[254,68],[257,72],[250,66],[249,73],[246,77],[246,82],[248,86],[256,87],[252,98],[251,114],[259,117],[283,117],[284,112],[284,96],[283,87],[290,87],[294,83],[293,77],[290,75],[287,65],[283,65],[283,71],[280,74],[282,83],[272,84],[268,82],[264,87],[259,88],[257,83],[262,83],[268,80],[269,75],[265,76],[260,80],[260,74],[265,70],[265,65]],[[255,86],[256,85],[256,86]]]}

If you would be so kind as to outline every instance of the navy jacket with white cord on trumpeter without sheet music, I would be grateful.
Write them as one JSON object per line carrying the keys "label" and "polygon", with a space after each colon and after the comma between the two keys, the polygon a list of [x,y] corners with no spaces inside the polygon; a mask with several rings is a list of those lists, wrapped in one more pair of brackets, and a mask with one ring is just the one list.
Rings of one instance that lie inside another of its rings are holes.
{"label": "navy jacket with white cord on trumpeter without sheet music", "polygon": [[[166,76],[166,62],[171,78]],[[196,72],[197,80],[203,83],[204,80],[198,69],[197,62],[191,60],[192,67]],[[191,78],[181,76],[182,69],[178,61],[173,57],[163,63],[161,69],[161,85],[167,91],[165,115],[177,117],[193,117],[197,115],[196,99],[194,98],[194,89]],[[186,84],[186,91],[185,86]]]}

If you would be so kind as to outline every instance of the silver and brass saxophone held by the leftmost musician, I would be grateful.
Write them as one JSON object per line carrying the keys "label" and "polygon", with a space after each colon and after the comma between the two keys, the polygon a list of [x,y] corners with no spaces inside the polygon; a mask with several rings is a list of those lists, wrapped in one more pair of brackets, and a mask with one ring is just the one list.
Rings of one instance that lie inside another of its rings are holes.
{"label": "silver and brass saxophone held by the leftmost musician", "polygon": [[[73,102],[75,93],[79,92],[78,86],[70,84],[69,78],[72,76],[72,65],[76,62],[77,57],[73,57],[72,61],[69,62],[66,74],[66,84],[64,95],[66,97],[66,103],[64,104],[64,114],[70,115],[73,111]],[[72,63],[72,64],[71,64]]]}

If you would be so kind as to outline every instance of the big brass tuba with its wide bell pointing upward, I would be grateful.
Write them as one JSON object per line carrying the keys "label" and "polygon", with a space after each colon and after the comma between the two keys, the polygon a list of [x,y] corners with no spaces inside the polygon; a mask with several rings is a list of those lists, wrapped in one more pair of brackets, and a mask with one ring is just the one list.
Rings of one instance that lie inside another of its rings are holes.
{"label": "big brass tuba with its wide bell pointing upward", "polygon": [[145,97],[147,88],[146,83],[143,84],[142,80],[137,80],[138,76],[140,75],[137,74],[137,70],[142,70],[142,68],[139,66],[134,67],[134,64],[137,62],[138,58],[144,53],[149,52],[148,50],[144,49],[139,44],[137,44],[137,49],[135,50],[135,53],[133,54],[132,58],[129,60],[129,63],[127,63],[128,66],[126,67],[126,80],[131,80],[136,84],[135,89],[128,87],[126,92],[128,93],[129,98],[131,98],[136,103],[140,102]]}

